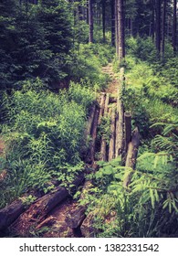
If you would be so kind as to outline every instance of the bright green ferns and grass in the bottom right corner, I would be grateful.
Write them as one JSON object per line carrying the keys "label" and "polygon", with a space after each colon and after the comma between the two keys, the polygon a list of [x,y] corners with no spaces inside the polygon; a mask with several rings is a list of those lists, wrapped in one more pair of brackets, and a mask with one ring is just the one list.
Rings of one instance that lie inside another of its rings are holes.
{"label": "bright green ferns and grass in the bottom right corner", "polygon": [[[141,155],[136,171],[120,166],[120,159],[98,164],[100,168],[93,179],[100,189],[92,187],[88,198],[97,237],[177,234],[174,228],[178,214],[177,173],[171,155],[165,152]],[[126,190],[122,182],[130,171],[131,184]]]}

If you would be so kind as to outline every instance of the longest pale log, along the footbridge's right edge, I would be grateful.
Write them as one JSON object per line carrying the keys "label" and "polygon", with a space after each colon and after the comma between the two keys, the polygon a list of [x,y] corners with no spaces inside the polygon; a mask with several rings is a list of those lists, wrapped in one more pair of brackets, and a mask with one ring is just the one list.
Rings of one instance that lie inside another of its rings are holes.
{"label": "longest pale log, along the footbridge's right edge", "polygon": [[116,117],[116,146],[115,157],[123,153],[123,103],[121,100],[122,86],[124,81],[124,69],[120,69],[120,84],[118,87],[117,98],[117,117]]}

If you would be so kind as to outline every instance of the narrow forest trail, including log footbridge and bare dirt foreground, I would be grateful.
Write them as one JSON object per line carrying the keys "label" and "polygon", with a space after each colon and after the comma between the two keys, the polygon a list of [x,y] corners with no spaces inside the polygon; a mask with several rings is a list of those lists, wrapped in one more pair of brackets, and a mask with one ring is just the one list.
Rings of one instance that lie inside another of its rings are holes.
{"label": "narrow forest trail, including log footbridge and bare dirt foreground", "polygon": [[[98,167],[98,160],[110,161],[118,156],[119,138],[116,131],[119,119],[117,112],[119,79],[113,72],[111,64],[104,67],[102,71],[110,75],[110,84],[105,91],[100,92],[98,102],[91,108],[86,130],[86,136],[90,136],[92,140],[85,155],[85,162],[86,167],[93,171]],[[110,118],[110,142],[107,142],[104,134],[98,136],[99,125],[103,118]],[[83,187],[86,187],[86,184],[89,186],[89,181],[85,182]],[[85,232],[82,233],[81,231],[81,225],[83,225],[82,222],[86,218],[86,208],[80,207],[79,203],[71,197],[65,197],[43,219],[37,216],[36,208],[34,208],[35,204],[32,204],[13,222],[9,228],[11,234],[18,237],[33,237],[34,235],[47,238],[85,237]],[[67,216],[70,218],[69,222]],[[72,226],[71,223],[73,222],[78,224]],[[84,222],[86,225],[86,221]]]}

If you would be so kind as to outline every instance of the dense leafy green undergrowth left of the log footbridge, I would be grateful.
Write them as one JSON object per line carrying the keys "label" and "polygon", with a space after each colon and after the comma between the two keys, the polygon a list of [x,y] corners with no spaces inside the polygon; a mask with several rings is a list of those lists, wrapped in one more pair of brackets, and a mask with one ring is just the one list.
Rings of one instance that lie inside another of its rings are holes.
{"label": "dense leafy green undergrowth left of the log footbridge", "polygon": [[[41,85],[38,91],[37,84]],[[31,188],[47,192],[52,177],[71,183],[83,169],[83,132],[94,93],[74,83],[68,93],[54,94],[42,88],[40,80],[35,85],[26,81],[22,91],[4,94],[6,153],[2,167],[8,170],[8,179],[2,193],[9,196],[2,205]]]}

